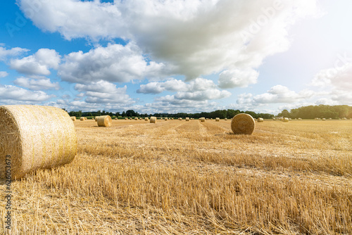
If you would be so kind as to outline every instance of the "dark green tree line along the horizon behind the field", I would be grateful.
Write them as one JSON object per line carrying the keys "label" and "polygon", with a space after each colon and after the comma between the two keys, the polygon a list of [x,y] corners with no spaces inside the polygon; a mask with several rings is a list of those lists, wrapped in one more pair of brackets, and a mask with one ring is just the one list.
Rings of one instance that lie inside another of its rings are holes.
{"label": "dark green tree line along the horizon behind the field", "polygon": [[[63,110],[65,110],[63,108]],[[213,112],[201,112],[201,113],[138,113],[134,110],[123,111],[122,113],[108,112],[105,110],[97,110],[92,112],[82,112],[79,111],[70,111],[68,114],[70,116],[80,117],[95,117],[101,115],[110,115],[111,117],[120,117],[120,118],[146,118],[146,117],[157,117],[157,118],[233,118],[234,115],[239,113],[247,113],[253,118],[264,118],[271,119],[274,117],[284,117],[284,118],[303,118],[303,119],[314,119],[314,118],[352,118],[352,107],[351,106],[302,106],[300,108],[294,108],[289,110],[282,110],[278,115],[273,115],[270,113],[255,113],[253,111],[241,111],[241,110],[215,110]]]}

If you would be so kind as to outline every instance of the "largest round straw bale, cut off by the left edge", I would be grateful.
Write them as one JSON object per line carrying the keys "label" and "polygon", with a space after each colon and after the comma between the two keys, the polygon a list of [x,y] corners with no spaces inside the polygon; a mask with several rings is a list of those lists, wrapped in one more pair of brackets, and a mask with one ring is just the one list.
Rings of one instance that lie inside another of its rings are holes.
{"label": "largest round straw bale, cut off by the left edge", "polygon": [[[0,129],[1,179],[68,164],[77,153],[75,126],[61,108],[0,106]],[[6,159],[11,160],[10,175]]]}

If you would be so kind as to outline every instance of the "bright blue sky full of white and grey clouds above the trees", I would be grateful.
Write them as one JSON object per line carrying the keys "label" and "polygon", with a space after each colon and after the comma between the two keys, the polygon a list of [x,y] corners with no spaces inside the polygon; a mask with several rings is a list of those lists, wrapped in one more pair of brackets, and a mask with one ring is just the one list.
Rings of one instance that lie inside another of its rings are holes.
{"label": "bright blue sky full of white and grey clouds above the trees", "polygon": [[352,1],[17,0],[0,105],[277,114],[352,105]]}

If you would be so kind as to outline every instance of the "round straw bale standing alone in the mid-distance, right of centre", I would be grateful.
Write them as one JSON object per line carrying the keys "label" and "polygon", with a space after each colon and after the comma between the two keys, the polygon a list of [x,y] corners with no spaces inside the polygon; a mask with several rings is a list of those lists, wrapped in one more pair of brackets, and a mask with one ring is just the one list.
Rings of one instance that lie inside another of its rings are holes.
{"label": "round straw bale standing alone in the mid-distance, right of centre", "polygon": [[256,128],[256,122],[251,115],[239,113],[232,118],[231,129],[234,134],[252,134]]}

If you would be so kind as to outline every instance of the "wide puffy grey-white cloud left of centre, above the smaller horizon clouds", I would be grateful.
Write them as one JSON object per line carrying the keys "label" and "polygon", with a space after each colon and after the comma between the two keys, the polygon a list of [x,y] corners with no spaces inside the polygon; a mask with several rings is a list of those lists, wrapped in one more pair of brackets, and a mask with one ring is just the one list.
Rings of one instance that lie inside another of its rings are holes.
{"label": "wide puffy grey-white cloud left of centre, above the smaller horizon clouds", "polygon": [[162,63],[147,63],[142,51],[135,44],[108,44],[106,47],[91,49],[87,53],[69,53],[63,58],[58,75],[65,81],[78,83],[99,80],[130,82],[158,76],[162,70]]}

